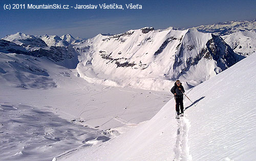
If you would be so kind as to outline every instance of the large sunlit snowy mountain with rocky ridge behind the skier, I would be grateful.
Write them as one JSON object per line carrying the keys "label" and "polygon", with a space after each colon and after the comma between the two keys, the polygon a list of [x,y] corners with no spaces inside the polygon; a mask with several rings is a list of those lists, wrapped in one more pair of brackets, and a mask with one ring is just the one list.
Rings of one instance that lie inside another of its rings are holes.
{"label": "large sunlit snowy mountain with rocky ridge behind the skier", "polygon": [[77,71],[87,81],[153,90],[166,90],[176,79],[196,86],[243,58],[221,37],[190,29],[99,34],[75,48]]}

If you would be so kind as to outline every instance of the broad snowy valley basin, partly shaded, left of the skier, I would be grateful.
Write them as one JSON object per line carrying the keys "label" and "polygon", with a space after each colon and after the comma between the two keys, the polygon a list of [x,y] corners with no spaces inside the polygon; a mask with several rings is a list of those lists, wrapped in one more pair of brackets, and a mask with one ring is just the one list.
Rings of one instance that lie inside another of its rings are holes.
{"label": "broad snowy valley basin, partly shaded, left of the skier", "polygon": [[46,57],[0,52],[0,160],[51,160],[150,120],[165,92],[95,85]]}

